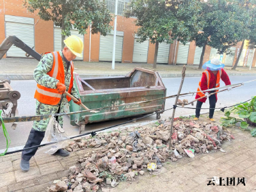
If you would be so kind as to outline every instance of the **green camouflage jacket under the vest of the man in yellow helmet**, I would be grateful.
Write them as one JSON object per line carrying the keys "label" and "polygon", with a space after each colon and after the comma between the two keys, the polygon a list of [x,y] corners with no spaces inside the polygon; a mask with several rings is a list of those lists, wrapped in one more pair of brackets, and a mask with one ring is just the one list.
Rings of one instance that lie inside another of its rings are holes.
{"label": "green camouflage jacket under the vest of the man in yellow helmet", "polygon": [[[67,70],[67,63],[64,59],[62,51],[60,51],[60,55],[61,55],[63,65],[64,65],[66,91],[68,91],[68,87],[70,84],[70,78],[71,78],[71,67],[69,67]],[[35,68],[33,76],[34,76],[36,83],[38,83],[42,86],[45,86],[47,88],[55,89],[56,84],[59,81],[57,79],[54,79],[53,77],[50,77],[47,75],[47,72],[49,72],[52,69],[52,65],[53,65],[52,54],[51,53],[45,54],[44,56],[42,56],[41,60],[38,63],[38,66]],[[79,99],[79,95],[74,86],[71,90],[71,95],[76,97],[76,99]],[[62,102],[68,102],[65,94],[62,95]]]}

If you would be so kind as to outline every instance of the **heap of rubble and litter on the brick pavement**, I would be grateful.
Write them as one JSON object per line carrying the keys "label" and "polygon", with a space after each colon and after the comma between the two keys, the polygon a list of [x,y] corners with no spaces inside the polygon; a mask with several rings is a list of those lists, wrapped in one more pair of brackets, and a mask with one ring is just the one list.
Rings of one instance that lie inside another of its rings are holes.
{"label": "heap of rubble and litter on the brick pavement", "polygon": [[225,152],[221,143],[234,139],[220,125],[175,118],[172,146],[168,150],[170,125],[170,120],[159,120],[156,124],[73,140],[66,148],[70,152],[95,150],[84,150],[79,166],[70,166],[69,175],[48,191],[109,191],[122,180],[134,180],[146,171],[157,172],[165,161],[177,161],[182,156],[193,157],[213,149]]}

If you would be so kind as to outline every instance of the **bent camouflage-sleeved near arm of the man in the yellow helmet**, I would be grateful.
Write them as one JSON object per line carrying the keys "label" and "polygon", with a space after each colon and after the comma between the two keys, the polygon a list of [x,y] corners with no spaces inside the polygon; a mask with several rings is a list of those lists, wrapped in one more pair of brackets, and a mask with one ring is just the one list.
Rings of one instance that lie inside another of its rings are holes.
{"label": "bent camouflage-sleeved near arm of the man in the yellow helmet", "polygon": [[34,70],[33,77],[36,83],[47,88],[56,89],[56,84],[59,81],[47,75],[47,72],[52,69],[52,64],[53,56],[51,53],[42,56],[41,60],[38,63],[38,66]]}

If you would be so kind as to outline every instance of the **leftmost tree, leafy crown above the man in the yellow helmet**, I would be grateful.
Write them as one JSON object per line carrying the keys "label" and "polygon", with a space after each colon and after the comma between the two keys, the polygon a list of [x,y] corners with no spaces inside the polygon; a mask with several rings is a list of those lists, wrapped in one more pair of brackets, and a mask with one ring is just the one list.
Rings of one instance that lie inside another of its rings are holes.
{"label": "leftmost tree, leafy crown above the man in the yellow helmet", "polygon": [[[40,19],[52,20],[62,29],[62,38],[70,35],[72,25],[84,35],[92,24],[92,34],[107,35],[112,16],[106,4],[98,0],[26,0],[29,12],[38,12]],[[62,39],[63,45],[63,39]],[[63,46],[62,46],[63,47]]]}

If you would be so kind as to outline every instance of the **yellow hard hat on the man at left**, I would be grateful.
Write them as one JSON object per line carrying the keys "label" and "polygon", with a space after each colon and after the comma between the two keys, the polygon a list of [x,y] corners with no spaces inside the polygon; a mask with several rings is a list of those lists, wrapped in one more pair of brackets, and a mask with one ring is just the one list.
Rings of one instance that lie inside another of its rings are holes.
{"label": "yellow hard hat on the man at left", "polygon": [[72,51],[77,57],[83,57],[83,49],[84,49],[84,44],[81,38],[79,38],[76,35],[71,35],[68,36],[64,40],[64,44],[68,47],[70,51]]}

